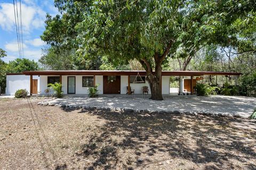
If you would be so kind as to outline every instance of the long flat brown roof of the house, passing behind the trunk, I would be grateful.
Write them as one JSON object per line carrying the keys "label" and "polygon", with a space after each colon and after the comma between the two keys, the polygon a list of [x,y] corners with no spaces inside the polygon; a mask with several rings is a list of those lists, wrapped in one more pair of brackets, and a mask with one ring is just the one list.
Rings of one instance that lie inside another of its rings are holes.
{"label": "long flat brown roof of the house, passing behind the trunk", "polygon": [[[146,71],[117,71],[117,70],[69,70],[69,71],[24,71],[25,75],[146,75]],[[162,71],[162,75],[240,75],[234,72],[213,72],[213,71]],[[7,74],[10,75],[10,74]]]}

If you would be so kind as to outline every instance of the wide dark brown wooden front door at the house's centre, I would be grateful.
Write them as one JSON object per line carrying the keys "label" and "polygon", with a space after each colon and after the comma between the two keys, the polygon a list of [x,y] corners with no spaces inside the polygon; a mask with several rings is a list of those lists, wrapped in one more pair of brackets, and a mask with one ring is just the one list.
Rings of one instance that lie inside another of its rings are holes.
{"label": "wide dark brown wooden front door at the house's centre", "polygon": [[103,76],[103,94],[120,94],[121,76]]}

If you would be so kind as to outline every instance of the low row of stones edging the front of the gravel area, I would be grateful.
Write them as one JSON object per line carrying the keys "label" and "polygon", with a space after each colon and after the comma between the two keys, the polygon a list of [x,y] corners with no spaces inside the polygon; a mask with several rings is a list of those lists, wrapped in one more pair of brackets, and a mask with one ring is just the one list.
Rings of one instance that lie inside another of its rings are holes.
{"label": "low row of stones edging the front of the gravel area", "polygon": [[[53,100],[53,99],[52,99]],[[50,100],[49,100],[50,101]],[[49,101],[41,101],[38,102],[37,105],[42,106],[58,106],[61,108],[67,109],[83,109],[85,111],[106,111],[106,112],[122,112],[122,113],[154,113],[154,114],[182,114],[182,115],[204,115],[204,116],[211,116],[211,117],[239,117],[240,115],[233,115],[233,114],[214,114],[210,112],[182,112],[182,111],[149,111],[148,109],[141,109],[141,110],[134,110],[132,108],[109,108],[109,107],[95,107],[95,106],[79,106],[79,105],[65,105],[65,104],[58,104],[58,103],[49,103]]]}

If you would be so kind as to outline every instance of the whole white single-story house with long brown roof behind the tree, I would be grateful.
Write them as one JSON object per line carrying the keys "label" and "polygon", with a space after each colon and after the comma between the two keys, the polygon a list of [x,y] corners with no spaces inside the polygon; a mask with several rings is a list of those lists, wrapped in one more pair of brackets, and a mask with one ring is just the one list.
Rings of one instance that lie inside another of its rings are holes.
{"label": "whole white single-story house with long brown roof behind the tree", "polygon": [[[174,92],[189,92],[203,75],[237,75],[231,72],[202,72],[202,71],[163,71],[162,94],[168,95],[170,90],[170,77],[178,76],[180,87]],[[26,89],[30,95],[44,95],[47,84],[60,82],[64,94],[89,94],[88,89],[98,84],[99,94],[142,94],[143,87],[149,84],[146,81],[145,71],[24,71],[22,73],[6,74],[6,95],[14,95],[18,89]],[[129,90],[130,89],[130,90]],[[145,88],[144,88],[145,89]],[[144,91],[146,92],[146,91]],[[193,93],[192,93],[193,94]]]}

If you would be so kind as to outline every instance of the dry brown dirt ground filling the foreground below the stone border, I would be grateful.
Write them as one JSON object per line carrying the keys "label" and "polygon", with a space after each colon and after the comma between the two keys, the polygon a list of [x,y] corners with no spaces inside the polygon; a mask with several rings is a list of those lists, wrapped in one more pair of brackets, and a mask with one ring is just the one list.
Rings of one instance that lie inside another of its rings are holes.
{"label": "dry brown dirt ground filling the foreground below the stone border", "polygon": [[0,99],[0,169],[256,169],[256,121]]}

